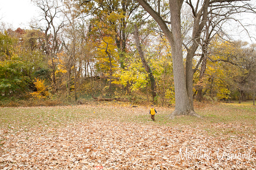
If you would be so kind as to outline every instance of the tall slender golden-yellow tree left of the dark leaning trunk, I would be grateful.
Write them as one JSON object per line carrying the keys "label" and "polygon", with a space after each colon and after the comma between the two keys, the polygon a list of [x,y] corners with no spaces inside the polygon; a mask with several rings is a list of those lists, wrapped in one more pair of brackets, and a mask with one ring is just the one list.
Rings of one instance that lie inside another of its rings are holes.
{"label": "tall slender golden-yellow tree left of the dark leaning trunk", "polygon": [[91,43],[97,47],[97,55],[95,56],[95,68],[101,77],[108,78],[109,91],[111,91],[111,84],[114,80],[113,74],[119,67],[119,53],[115,43],[114,25],[119,19],[118,13],[111,13],[110,15],[102,16],[105,22],[99,21],[97,18],[90,21],[89,37]]}

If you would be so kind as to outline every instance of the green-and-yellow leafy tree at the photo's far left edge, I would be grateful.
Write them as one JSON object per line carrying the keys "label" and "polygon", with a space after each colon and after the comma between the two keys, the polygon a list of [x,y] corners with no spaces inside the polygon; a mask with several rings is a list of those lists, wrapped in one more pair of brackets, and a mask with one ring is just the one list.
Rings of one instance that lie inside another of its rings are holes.
{"label": "green-and-yellow leafy tree at the photo's far left edge", "polygon": [[[9,29],[8,32],[14,32]],[[3,97],[18,97],[21,92],[28,90],[29,78],[21,72],[25,69],[15,53],[15,44],[19,43],[18,37],[10,36],[7,31],[0,32],[0,91]]]}

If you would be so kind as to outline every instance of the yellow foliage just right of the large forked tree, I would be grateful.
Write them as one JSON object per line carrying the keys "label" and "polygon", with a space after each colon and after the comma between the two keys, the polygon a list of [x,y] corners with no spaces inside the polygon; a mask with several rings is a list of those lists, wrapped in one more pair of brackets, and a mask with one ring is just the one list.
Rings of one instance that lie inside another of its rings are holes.
{"label": "yellow foliage just right of the large forked tree", "polygon": [[[212,53],[209,57],[213,60],[224,60],[234,63],[239,53],[242,53],[243,43],[230,43],[222,41],[212,41],[210,48]],[[231,86],[235,84],[232,77],[237,76],[241,71],[238,67],[228,62],[207,61],[204,77],[198,81],[199,73],[195,74],[195,86],[205,89],[205,97],[217,97],[218,99],[229,98]]]}

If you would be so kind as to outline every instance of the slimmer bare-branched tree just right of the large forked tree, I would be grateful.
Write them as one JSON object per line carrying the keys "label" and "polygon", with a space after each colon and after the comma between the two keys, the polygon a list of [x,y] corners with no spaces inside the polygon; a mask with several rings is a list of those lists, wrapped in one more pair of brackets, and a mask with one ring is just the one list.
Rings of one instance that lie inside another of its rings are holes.
{"label": "slimmer bare-branched tree just right of the large forked tree", "polygon": [[[189,6],[191,6],[191,4],[191,2],[188,3]],[[253,7],[250,8],[249,4],[245,4],[244,7],[243,5],[239,7],[239,5],[241,4],[235,3],[234,6],[227,5],[225,8],[215,8],[211,6],[211,10],[207,16],[205,27],[198,40],[198,49],[200,54],[196,54],[199,56],[199,58],[196,58],[196,60],[198,60],[199,62],[197,62],[197,65],[194,68],[194,74],[199,71],[199,80],[196,85],[196,96],[199,101],[202,101],[203,89],[201,86],[201,81],[204,79],[206,63],[208,60],[207,58],[209,57],[209,51],[211,50],[209,49],[209,46],[218,40],[231,38],[232,35],[230,35],[230,31],[225,28],[227,24],[232,23],[234,20],[237,21],[238,14],[253,13]],[[245,29],[245,25],[242,22],[239,21],[238,23],[241,25],[241,27]],[[230,41],[232,40],[230,39]],[[186,49],[188,49],[189,43],[190,40],[188,39],[183,44]]]}

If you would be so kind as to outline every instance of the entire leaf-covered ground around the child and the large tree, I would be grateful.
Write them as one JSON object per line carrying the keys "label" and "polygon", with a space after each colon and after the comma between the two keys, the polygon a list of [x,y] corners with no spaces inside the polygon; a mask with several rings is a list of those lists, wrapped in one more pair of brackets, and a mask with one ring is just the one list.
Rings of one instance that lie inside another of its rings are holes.
{"label": "entire leaf-covered ground around the child and the large tree", "polygon": [[157,111],[152,122],[142,106],[0,108],[0,169],[256,169],[254,107]]}

